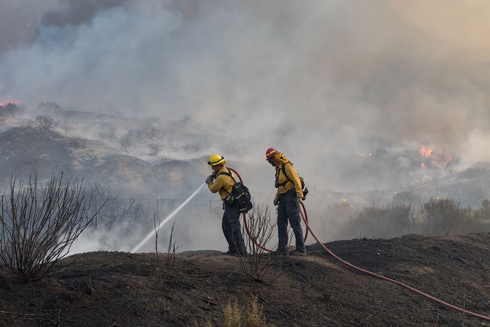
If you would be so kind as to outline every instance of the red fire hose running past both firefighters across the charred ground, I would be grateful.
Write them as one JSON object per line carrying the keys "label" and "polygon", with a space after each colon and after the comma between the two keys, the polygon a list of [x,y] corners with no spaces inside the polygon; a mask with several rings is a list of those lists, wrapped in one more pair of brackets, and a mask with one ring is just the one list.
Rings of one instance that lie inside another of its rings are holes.
{"label": "red fire hose running past both firefighters across the charred ground", "polygon": [[[240,182],[242,182],[242,179],[240,177],[240,175],[236,172],[236,170],[234,169],[231,169],[229,168],[229,170],[231,170],[232,172],[234,172],[238,178],[240,179]],[[309,223],[309,220],[308,220],[308,213],[306,212],[306,206],[303,202],[300,202],[298,204],[299,206],[299,209],[300,209],[300,214],[301,214],[301,218],[303,219],[305,225],[306,225],[306,232],[305,232],[305,241],[306,241],[306,237],[308,236],[308,231],[311,233],[311,236],[316,240],[316,242],[325,250],[328,252],[328,254],[330,254],[331,256],[333,256],[334,259],[336,259],[337,261],[341,262],[342,264],[354,269],[354,270],[357,270],[359,272],[362,272],[362,273],[365,273],[367,275],[370,275],[370,276],[373,276],[373,277],[376,277],[376,278],[380,278],[380,279],[383,279],[383,281],[386,281],[386,282],[390,282],[390,283],[393,283],[393,284],[396,284],[396,285],[399,285],[401,287],[404,287],[412,292],[415,292],[419,295],[422,295],[422,296],[425,296],[426,298],[432,300],[432,301],[435,301],[445,307],[448,307],[450,309],[453,309],[453,310],[457,310],[459,312],[462,312],[463,314],[468,314],[468,315],[471,315],[471,316],[474,316],[476,318],[480,318],[480,319],[483,319],[483,320],[487,320],[487,321],[490,321],[490,317],[488,316],[483,316],[483,315],[480,315],[478,313],[474,313],[472,311],[468,311],[468,310],[464,310],[462,308],[459,308],[459,307],[456,307],[454,305],[451,305],[450,303],[447,303],[447,302],[444,302],[443,300],[440,300],[436,297],[433,297],[429,294],[426,294],[422,291],[419,291],[418,289],[415,289],[411,286],[408,286],[402,282],[399,282],[399,281],[396,281],[395,279],[392,279],[392,278],[388,278],[388,277],[385,277],[385,276],[382,276],[380,274],[377,274],[377,273],[374,273],[374,272],[371,272],[369,270],[365,270],[365,269],[362,269],[362,268],[359,268],[357,266],[354,266],[353,264],[339,258],[335,253],[333,253],[332,251],[330,251],[326,246],[325,244],[322,243],[322,241],[320,241],[320,239],[318,239],[318,237],[315,235],[315,233],[313,232],[313,230],[311,230],[311,227],[310,225],[308,224]],[[247,216],[245,213],[243,213],[243,224],[245,226],[245,229],[247,230],[247,234],[249,235],[249,238],[255,243],[255,245],[259,246],[261,249],[265,250],[265,251],[268,251],[268,252],[271,252],[271,250],[265,248],[264,246],[262,246],[261,244],[258,244],[256,242],[256,240],[253,238],[253,236],[251,235],[250,233],[250,230],[249,230],[249,226],[248,226],[248,223],[247,223]]]}

